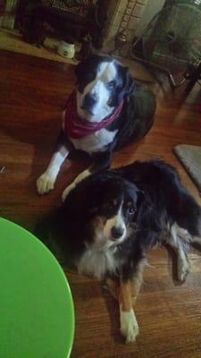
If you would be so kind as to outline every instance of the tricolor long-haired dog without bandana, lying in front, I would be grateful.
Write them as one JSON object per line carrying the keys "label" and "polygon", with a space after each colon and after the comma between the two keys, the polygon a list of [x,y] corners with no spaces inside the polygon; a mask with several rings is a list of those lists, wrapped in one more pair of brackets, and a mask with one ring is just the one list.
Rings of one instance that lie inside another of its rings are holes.
{"label": "tricolor long-haired dog without bandana, lying in front", "polygon": [[133,311],[147,249],[165,241],[176,251],[184,280],[188,243],[201,243],[201,209],[172,166],[135,162],[88,176],[51,217],[52,230],[68,260],[82,274],[106,279],[118,298],[121,333],[138,335]]}

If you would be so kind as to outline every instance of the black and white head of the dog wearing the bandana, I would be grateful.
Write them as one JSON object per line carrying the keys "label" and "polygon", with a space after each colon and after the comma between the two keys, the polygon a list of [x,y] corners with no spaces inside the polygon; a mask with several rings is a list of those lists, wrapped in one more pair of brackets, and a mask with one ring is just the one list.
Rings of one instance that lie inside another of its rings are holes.
{"label": "black and white head of the dog wearing the bandana", "polygon": [[76,67],[77,110],[89,122],[111,115],[134,89],[128,67],[109,56],[91,55]]}

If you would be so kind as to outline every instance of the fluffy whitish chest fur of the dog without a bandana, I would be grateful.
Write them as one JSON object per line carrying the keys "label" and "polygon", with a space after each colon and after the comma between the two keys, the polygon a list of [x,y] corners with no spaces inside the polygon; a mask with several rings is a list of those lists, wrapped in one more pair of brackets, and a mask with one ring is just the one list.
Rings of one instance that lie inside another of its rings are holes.
{"label": "fluffy whitish chest fur of the dog without a bandana", "polygon": [[98,279],[104,278],[105,273],[115,272],[117,260],[114,250],[93,250],[88,249],[83,253],[78,263],[80,274],[90,275]]}

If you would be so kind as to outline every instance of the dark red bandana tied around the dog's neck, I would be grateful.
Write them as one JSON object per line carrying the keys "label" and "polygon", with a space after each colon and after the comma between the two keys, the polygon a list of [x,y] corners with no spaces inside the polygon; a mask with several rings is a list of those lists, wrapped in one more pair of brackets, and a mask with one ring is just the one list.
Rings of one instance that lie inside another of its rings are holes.
{"label": "dark red bandana tied around the dog's neck", "polygon": [[121,113],[121,105],[114,109],[113,114],[109,115],[102,122],[89,123],[80,118],[77,114],[76,92],[73,91],[66,102],[66,111],[64,116],[63,129],[66,134],[73,139],[81,139],[96,131],[100,131],[111,124]]}

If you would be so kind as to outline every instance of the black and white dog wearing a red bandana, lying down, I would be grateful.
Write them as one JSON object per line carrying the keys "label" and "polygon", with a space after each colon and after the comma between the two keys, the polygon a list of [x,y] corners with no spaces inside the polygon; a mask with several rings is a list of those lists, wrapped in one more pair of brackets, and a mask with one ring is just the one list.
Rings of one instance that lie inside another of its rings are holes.
{"label": "black and white dog wearing a red bandana, lying down", "polygon": [[109,168],[113,151],[144,137],[154,122],[155,96],[135,83],[129,69],[112,57],[92,55],[78,64],[75,72],[78,86],[66,103],[57,149],[38,178],[40,194],[54,189],[71,150],[87,152],[92,166],[66,188],[63,197],[84,177]]}

